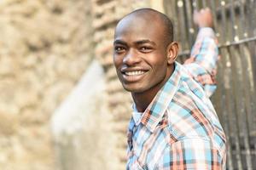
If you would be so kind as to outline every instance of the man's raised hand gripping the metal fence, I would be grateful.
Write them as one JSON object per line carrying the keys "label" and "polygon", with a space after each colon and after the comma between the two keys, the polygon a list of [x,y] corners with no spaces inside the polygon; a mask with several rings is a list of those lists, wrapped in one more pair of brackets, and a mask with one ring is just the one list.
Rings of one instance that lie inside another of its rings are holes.
{"label": "man's raised hand gripping the metal fence", "polygon": [[195,11],[193,15],[195,25],[201,27],[213,27],[212,12],[210,8],[202,8],[200,11]]}

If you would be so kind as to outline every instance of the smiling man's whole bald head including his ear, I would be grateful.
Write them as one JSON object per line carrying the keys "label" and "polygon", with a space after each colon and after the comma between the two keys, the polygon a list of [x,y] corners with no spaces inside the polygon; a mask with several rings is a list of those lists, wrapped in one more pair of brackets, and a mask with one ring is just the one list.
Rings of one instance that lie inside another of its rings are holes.
{"label": "smiling man's whole bald head including his ear", "polygon": [[151,101],[171,77],[178,51],[172,34],[171,20],[151,8],[137,9],[119,21],[113,64],[123,87],[133,96],[148,96]]}

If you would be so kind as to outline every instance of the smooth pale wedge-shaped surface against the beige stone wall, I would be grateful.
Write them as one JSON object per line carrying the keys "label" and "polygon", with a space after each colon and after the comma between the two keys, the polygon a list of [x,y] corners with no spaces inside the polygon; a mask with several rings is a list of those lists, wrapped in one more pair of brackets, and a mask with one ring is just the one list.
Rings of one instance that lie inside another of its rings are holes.
{"label": "smooth pale wedge-shaped surface against the beige stone wall", "polygon": [[[77,87],[55,111],[52,131],[61,169],[115,169],[113,134],[102,66],[93,61]],[[109,161],[111,157],[111,161]]]}

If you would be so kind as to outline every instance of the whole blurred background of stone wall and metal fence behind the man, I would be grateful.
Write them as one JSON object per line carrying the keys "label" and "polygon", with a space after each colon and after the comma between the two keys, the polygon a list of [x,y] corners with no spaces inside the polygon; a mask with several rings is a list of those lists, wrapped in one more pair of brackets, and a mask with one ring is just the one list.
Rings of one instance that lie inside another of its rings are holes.
{"label": "whole blurred background of stone wall and metal fence behind the man", "polygon": [[112,65],[113,29],[142,7],[173,20],[180,62],[193,11],[212,8],[227,168],[256,169],[256,1],[0,0],[1,170],[125,169],[131,97]]}

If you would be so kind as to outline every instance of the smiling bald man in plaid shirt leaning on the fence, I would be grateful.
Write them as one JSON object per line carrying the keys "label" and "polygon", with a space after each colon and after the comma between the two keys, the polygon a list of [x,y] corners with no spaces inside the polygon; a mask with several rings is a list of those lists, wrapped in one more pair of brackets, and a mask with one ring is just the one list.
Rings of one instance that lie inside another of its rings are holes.
{"label": "smiling bald man in plaid shirt leaning on the fence", "polygon": [[194,20],[200,31],[184,65],[165,14],[141,8],[116,26],[113,63],[134,101],[127,169],[225,168],[224,131],[208,99],[218,59],[210,10]]}

